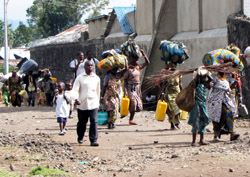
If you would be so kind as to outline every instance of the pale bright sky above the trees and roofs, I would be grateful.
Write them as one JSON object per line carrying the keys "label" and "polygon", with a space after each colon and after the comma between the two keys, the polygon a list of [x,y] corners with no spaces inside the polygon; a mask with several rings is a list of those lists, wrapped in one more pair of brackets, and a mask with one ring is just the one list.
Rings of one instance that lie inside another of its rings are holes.
{"label": "pale bright sky above the trees and roofs", "polygon": [[[8,2],[7,18],[10,20],[26,21],[26,9],[33,4],[33,0],[5,0]],[[110,3],[106,10],[102,11],[102,14],[108,14],[111,11],[110,8],[114,6],[131,6],[136,4],[136,0],[110,0]],[[88,14],[85,14],[88,17]],[[4,0],[0,0],[0,19],[4,18]]]}

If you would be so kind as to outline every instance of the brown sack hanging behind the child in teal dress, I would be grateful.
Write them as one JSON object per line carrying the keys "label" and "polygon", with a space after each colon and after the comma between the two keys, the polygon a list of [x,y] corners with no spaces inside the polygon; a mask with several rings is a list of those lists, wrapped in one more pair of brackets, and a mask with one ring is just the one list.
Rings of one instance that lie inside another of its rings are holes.
{"label": "brown sack hanging behind the child in teal dress", "polygon": [[195,104],[195,79],[178,93],[175,102],[181,110],[190,112]]}

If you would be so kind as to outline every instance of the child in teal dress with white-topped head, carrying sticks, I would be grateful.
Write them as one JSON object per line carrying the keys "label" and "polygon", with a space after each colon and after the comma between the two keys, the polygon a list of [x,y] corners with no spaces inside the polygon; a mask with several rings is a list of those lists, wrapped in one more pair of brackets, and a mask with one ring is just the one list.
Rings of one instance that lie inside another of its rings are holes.
{"label": "child in teal dress with white-topped head, carrying sticks", "polygon": [[205,69],[198,69],[196,73],[196,92],[195,105],[189,113],[188,124],[192,126],[193,140],[191,146],[198,146],[196,141],[196,134],[200,134],[199,145],[208,145],[204,141],[205,127],[211,121],[208,117],[206,99],[207,90],[211,88],[211,73]]}

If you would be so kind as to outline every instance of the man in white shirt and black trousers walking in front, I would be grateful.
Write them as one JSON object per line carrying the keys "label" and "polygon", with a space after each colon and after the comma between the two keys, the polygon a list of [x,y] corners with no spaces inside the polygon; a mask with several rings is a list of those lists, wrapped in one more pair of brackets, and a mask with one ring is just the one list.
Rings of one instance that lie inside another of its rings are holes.
{"label": "man in white shirt and black trousers walking in front", "polygon": [[77,141],[83,143],[88,118],[90,118],[89,140],[91,146],[99,146],[97,143],[97,112],[100,101],[100,78],[93,72],[92,61],[85,62],[85,72],[80,74],[73,85],[77,106]]}

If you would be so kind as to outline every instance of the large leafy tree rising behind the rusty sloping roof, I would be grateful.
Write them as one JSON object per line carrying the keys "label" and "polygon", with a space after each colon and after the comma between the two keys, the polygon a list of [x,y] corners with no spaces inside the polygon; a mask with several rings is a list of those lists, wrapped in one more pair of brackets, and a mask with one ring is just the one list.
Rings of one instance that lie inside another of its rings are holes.
{"label": "large leafy tree rising behind the rusty sloping roof", "polygon": [[[80,23],[82,15],[92,8],[98,12],[109,0],[34,0],[27,9],[28,23],[35,39],[56,35]],[[95,12],[95,13],[96,13]]]}

